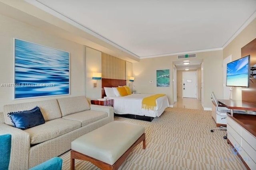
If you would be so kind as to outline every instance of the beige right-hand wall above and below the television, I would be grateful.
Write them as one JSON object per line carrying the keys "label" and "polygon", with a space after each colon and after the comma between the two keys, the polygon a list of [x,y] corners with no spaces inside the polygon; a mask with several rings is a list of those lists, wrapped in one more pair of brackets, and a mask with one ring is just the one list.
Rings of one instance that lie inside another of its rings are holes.
{"label": "beige right-hand wall above and below the television", "polygon": [[[256,19],[254,19],[231,43],[223,49],[223,59],[232,55],[232,61],[241,57],[241,48],[256,38]],[[233,88],[233,99],[242,100],[242,88]]]}

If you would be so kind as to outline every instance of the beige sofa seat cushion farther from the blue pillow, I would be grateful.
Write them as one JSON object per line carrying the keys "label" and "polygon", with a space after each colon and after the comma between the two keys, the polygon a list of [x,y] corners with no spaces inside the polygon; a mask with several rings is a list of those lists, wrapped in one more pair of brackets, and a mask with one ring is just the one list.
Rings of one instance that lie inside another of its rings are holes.
{"label": "beige sofa seat cushion farther from the blue pillow", "polygon": [[105,117],[108,117],[108,113],[106,112],[86,110],[86,111],[81,111],[79,113],[74,113],[71,115],[64,116],[62,117],[62,119],[80,121],[82,122],[82,126],[86,126],[90,123],[93,123]]}

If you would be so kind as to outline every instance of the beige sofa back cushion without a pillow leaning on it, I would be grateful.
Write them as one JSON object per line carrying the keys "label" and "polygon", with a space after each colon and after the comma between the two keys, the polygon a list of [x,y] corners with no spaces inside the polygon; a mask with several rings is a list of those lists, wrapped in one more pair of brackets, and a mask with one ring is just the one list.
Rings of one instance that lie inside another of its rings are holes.
{"label": "beige sofa back cushion without a pillow leaning on it", "polygon": [[57,99],[62,116],[90,110],[90,105],[85,96]]}

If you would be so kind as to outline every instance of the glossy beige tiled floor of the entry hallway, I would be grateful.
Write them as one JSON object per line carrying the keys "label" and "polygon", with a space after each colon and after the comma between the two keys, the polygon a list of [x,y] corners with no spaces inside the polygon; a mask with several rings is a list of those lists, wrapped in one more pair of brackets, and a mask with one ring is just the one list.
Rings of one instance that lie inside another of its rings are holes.
{"label": "glossy beige tiled floor of the entry hallway", "polygon": [[201,100],[197,100],[196,98],[178,97],[177,102],[174,104],[173,107],[204,110],[201,106]]}

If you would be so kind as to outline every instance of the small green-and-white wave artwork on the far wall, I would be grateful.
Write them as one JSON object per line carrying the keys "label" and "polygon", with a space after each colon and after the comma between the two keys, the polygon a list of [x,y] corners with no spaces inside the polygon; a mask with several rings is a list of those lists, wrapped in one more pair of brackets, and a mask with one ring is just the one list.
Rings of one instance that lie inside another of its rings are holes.
{"label": "small green-and-white wave artwork on the far wall", "polygon": [[170,69],[156,70],[156,87],[170,87]]}

